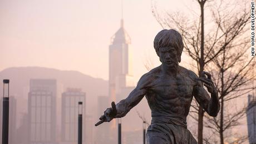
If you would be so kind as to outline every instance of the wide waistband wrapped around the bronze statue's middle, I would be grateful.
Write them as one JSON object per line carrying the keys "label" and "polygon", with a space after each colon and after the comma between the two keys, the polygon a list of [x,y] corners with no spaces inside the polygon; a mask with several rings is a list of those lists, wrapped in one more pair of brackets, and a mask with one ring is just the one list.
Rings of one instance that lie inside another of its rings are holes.
{"label": "wide waistband wrapped around the bronze statue's middle", "polygon": [[184,121],[180,117],[154,116],[154,117],[152,117],[151,124],[154,124],[154,123],[167,123],[167,124],[187,128],[186,121]]}

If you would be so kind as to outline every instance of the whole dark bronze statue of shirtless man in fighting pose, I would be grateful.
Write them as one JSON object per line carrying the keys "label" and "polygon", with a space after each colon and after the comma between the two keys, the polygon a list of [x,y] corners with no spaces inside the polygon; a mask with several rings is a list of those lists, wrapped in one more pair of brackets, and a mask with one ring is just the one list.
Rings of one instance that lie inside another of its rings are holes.
{"label": "whole dark bronze statue of shirtless man in fighting pose", "polygon": [[210,73],[203,72],[203,77],[198,78],[193,71],[179,66],[183,47],[183,39],[175,29],[160,31],[154,48],[162,64],[143,75],[127,98],[116,105],[112,102],[112,107],[106,109],[95,126],[124,117],[146,96],[152,116],[146,133],[147,143],[197,143],[186,126],[193,96],[213,117],[218,115],[220,103]]}

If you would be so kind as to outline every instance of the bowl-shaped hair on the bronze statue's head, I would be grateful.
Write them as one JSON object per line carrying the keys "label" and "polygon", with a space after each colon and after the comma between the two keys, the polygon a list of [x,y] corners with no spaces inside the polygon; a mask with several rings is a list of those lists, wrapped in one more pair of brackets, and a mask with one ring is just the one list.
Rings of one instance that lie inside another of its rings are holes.
{"label": "bowl-shaped hair on the bronze statue's head", "polygon": [[154,39],[154,48],[157,56],[159,56],[159,48],[172,46],[176,48],[179,54],[179,62],[181,60],[181,53],[183,51],[183,39],[178,31],[175,29],[163,29],[156,34]]}

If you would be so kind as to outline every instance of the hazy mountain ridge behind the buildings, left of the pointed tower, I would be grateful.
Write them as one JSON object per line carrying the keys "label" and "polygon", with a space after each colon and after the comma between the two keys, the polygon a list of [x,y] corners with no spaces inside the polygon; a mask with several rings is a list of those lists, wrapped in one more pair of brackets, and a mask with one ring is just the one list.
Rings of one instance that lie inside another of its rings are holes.
{"label": "hazy mountain ridge behind the buildings, left of the pointed tower", "polygon": [[90,111],[95,110],[97,106],[97,96],[107,96],[108,94],[108,81],[93,78],[78,71],[60,71],[43,67],[7,68],[0,72],[0,93],[3,93],[2,80],[4,78],[10,80],[10,95],[17,98],[18,113],[27,111],[29,80],[31,78],[56,79],[57,83],[63,87],[62,90],[57,90],[59,92],[58,97],[61,95],[60,92],[65,91],[67,87],[82,88],[82,91],[86,92],[86,111],[89,111],[89,115],[91,114]]}

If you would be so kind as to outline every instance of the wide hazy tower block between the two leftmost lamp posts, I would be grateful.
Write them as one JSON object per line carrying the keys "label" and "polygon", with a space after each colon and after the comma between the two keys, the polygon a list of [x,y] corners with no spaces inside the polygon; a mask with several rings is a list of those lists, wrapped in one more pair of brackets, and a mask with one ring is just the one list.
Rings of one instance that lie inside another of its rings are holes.
{"label": "wide hazy tower block between the two leftmost lamp posts", "polygon": [[30,80],[28,93],[28,141],[56,143],[56,80]]}

